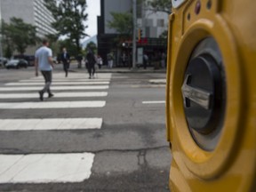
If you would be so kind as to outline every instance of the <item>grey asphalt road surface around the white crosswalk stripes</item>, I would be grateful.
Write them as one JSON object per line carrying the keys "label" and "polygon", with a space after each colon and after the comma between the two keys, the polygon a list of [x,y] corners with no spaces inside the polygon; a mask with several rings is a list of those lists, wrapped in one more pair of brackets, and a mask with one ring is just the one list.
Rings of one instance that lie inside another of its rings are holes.
{"label": "grey asphalt road surface around the white crosswalk stripes", "polygon": [[[60,68],[57,68],[54,76],[59,78],[60,83],[62,80],[64,82],[75,81],[77,83],[75,84],[79,85],[83,78],[84,82],[88,81],[87,75],[81,72],[70,73],[68,78],[65,79],[64,73]],[[55,91],[56,97],[45,99],[43,102],[39,101],[38,98],[13,99],[10,97],[0,99],[0,104],[33,102],[33,105],[37,103],[45,105],[47,102],[64,103],[70,101],[72,103],[88,100],[106,102],[102,108],[85,108],[84,106],[79,108],[1,108],[0,120],[102,118],[99,129],[0,131],[0,161],[1,155],[29,156],[43,154],[47,156],[49,154],[71,154],[72,156],[72,154],[89,153],[93,156],[89,177],[82,181],[69,182],[48,180],[44,183],[34,183],[25,179],[24,182],[14,182],[12,180],[2,182],[1,179],[6,176],[8,170],[3,172],[2,168],[1,171],[2,163],[0,162],[1,192],[169,191],[168,176],[171,155],[165,136],[163,103],[165,90],[164,84],[152,84],[152,80],[154,82],[154,80],[164,79],[165,75],[157,73],[99,73],[96,77],[95,82],[100,82],[100,79],[102,79],[102,82],[109,81],[109,88],[103,90],[108,92],[108,96],[57,97],[59,92],[65,91],[63,90]],[[1,88],[30,87],[31,84],[11,86],[7,83],[17,83],[20,80],[26,82],[31,78],[34,78],[33,68],[19,70],[1,68],[0,95],[7,93],[20,94],[20,91],[14,89],[13,91],[1,91]],[[31,82],[33,81],[34,79]],[[103,91],[94,90],[93,92]],[[28,90],[21,93],[33,94],[35,92]],[[85,92],[90,92],[90,90]],[[157,103],[155,101],[161,102]],[[27,166],[30,166],[30,164]],[[33,174],[35,176],[40,175],[41,172],[36,172],[36,170],[33,170]],[[46,170],[45,172],[47,174]],[[83,166],[81,172],[83,172]]]}

